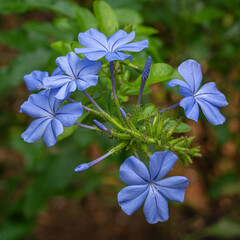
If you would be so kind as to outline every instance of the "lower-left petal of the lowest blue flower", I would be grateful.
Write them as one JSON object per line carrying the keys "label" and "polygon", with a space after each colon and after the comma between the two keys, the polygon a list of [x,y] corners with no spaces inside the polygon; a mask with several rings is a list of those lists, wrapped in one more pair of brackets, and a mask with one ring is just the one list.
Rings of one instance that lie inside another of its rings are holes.
{"label": "lower-left petal of the lowest blue flower", "polygon": [[118,193],[118,204],[127,215],[132,215],[143,204],[148,191],[147,184],[125,187]]}

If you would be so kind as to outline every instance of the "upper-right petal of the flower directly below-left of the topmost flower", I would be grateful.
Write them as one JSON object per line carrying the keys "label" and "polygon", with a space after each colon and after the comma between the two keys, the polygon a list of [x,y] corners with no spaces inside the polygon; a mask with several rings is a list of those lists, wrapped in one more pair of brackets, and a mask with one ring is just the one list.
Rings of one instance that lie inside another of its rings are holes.
{"label": "upper-right petal of the flower directly below-left of the topmost flower", "polygon": [[101,69],[101,62],[89,61],[87,58],[81,60],[81,68],[77,74],[77,78],[83,75],[97,74]]}

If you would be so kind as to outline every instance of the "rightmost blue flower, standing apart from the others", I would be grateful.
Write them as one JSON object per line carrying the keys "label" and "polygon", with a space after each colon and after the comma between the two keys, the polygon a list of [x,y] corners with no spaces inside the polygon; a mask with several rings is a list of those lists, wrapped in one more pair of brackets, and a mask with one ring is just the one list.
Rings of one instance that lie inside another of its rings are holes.
{"label": "rightmost blue flower, standing apart from the others", "polygon": [[213,125],[225,122],[225,117],[220,113],[218,107],[228,105],[225,96],[218,91],[214,82],[204,84],[202,82],[202,71],[200,64],[194,60],[187,60],[178,67],[179,73],[184,81],[173,79],[167,87],[179,85],[179,93],[183,98],[179,105],[184,108],[185,114],[189,119],[198,122],[199,106],[201,107],[207,120]]}

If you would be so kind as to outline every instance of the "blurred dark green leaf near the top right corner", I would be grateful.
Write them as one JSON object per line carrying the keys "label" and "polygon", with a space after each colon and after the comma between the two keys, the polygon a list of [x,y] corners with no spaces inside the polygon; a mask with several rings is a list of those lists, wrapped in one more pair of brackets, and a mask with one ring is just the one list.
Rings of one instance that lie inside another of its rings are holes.
{"label": "blurred dark green leaf near the top right corner", "polygon": [[196,23],[210,22],[217,19],[222,19],[224,11],[215,7],[206,7],[193,15],[193,21]]}

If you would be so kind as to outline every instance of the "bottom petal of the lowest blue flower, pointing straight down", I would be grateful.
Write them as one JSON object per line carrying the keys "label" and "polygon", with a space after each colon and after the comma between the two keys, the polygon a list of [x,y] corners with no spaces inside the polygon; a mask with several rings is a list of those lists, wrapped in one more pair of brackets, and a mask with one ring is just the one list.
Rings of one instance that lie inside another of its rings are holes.
{"label": "bottom petal of the lowest blue flower, pointing straight down", "polygon": [[148,223],[164,222],[169,218],[168,202],[158,191],[150,187],[143,212]]}

